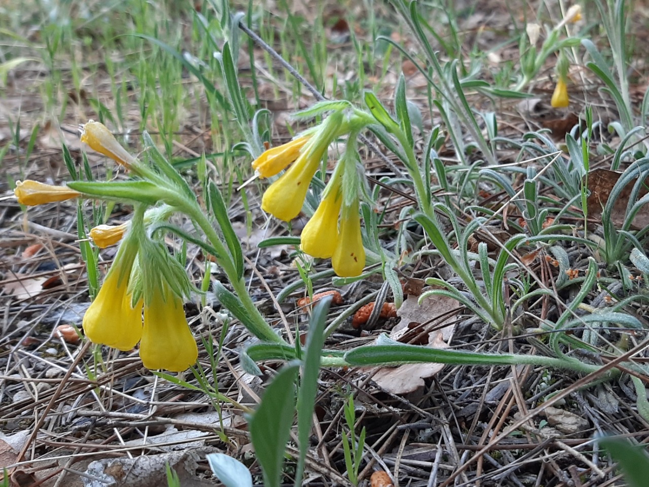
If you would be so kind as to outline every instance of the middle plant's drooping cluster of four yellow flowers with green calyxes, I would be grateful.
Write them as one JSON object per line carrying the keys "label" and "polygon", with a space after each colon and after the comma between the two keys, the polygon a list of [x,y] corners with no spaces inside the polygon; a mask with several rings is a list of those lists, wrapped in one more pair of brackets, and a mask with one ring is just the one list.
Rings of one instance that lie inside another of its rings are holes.
{"label": "middle plant's drooping cluster of four yellow flowers with green calyxes", "polygon": [[354,277],[365,267],[365,249],[359,215],[354,114],[337,111],[324,122],[287,144],[268,149],[252,162],[260,177],[271,177],[291,165],[264,192],[262,209],[284,221],[299,215],[309,184],[320,167],[328,146],[342,134],[349,134],[347,149],[328,184],[312,218],[300,238],[300,248],[317,258],[331,258],[337,275]]}

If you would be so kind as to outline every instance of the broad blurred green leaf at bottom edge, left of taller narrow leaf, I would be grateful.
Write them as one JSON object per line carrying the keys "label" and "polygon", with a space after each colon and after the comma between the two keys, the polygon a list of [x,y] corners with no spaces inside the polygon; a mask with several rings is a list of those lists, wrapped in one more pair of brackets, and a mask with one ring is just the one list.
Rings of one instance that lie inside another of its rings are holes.
{"label": "broad blurred green leaf at bottom edge, left of taller narrow leaf", "polygon": [[284,451],[295,411],[295,378],[299,365],[285,366],[266,388],[250,421],[252,445],[266,487],[280,487]]}

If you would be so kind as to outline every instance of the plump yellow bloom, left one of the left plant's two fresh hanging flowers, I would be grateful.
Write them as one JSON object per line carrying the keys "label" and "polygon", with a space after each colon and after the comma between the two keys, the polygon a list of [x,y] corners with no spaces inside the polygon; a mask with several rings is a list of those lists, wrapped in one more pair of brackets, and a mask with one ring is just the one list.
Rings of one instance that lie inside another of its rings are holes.
{"label": "plump yellow bloom, left one of the left plant's two fresh hanging flowers", "polygon": [[[94,343],[103,343],[122,351],[132,349],[142,336],[142,303],[130,305],[130,269],[123,269],[116,260],[108,272],[99,294],[83,317],[83,329]],[[130,267],[130,266],[129,266]]]}

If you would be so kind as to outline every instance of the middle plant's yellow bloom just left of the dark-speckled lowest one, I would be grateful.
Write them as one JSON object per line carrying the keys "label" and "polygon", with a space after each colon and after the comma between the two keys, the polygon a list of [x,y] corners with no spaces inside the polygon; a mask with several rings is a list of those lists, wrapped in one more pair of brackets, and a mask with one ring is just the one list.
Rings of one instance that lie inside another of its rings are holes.
{"label": "middle plant's yellow bloom just left of the dark-speckled lowest one", "polygon": [[334,255],[339,240],[338,216],[343,203],[341,177],[337,176],[331,184],[312,218],[302,229],[300,238],[302,251],[317,258]]}

